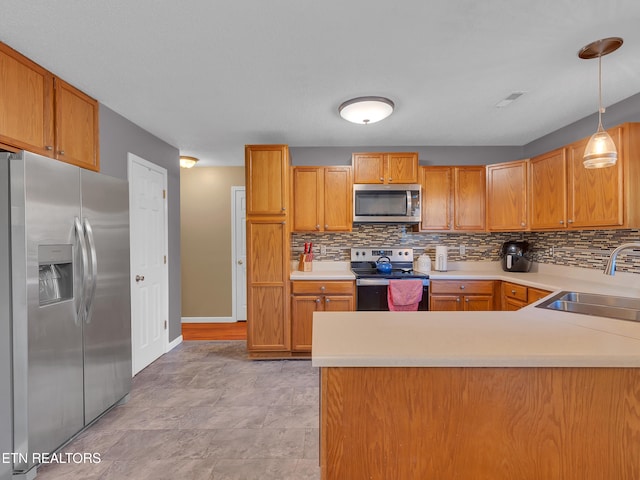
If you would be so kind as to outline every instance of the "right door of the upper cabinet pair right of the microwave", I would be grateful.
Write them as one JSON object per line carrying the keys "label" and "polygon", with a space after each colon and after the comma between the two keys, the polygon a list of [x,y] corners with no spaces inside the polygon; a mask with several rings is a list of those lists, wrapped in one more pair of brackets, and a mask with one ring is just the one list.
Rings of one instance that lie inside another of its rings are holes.
{"label": "right door of the upper cabinet pair right of the microwave", "polygon": [[484,230],[486,190],[484,167],[455,167],[453,183],[454,229]]}

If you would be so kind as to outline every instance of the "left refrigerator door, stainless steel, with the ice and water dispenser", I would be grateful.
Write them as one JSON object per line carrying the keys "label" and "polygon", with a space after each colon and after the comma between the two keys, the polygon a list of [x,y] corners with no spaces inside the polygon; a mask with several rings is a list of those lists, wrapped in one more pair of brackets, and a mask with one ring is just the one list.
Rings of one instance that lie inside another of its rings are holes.
{"label": "left refrigerator door, stainless steel, with the ice and water dispenser", "polygon": [[23,471],[32,453],[54,451],[84,425],[80,172],[25,152],[9,167],[14,452],[29,460],[14,469]]}

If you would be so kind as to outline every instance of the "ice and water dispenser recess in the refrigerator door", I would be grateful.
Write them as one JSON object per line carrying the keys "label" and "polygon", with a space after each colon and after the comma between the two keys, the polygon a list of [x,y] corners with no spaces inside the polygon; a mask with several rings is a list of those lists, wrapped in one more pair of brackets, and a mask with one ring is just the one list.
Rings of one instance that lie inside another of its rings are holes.
{"label": "ice and water dispenser recess in the refrigerator door", "polygon": [[38,245],[40,305],[73,298],[71,245]]}

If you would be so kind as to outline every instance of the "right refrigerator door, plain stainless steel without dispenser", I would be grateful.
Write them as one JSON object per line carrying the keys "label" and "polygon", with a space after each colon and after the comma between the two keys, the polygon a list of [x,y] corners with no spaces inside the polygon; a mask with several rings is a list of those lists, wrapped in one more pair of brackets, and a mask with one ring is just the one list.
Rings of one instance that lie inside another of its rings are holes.
{"label": "right refrigerator door, plain stainless steel without dispenser", "polygon": [[85,421],[131,389],[129,183],[82,170],[90,281],[84,325]]}

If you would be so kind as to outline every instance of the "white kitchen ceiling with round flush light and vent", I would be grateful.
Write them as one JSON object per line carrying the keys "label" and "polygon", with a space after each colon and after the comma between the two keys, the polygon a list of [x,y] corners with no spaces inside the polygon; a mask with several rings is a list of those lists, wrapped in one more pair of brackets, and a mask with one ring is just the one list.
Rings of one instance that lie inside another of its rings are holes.
{"label": "white kitchen ceiling with round flush light and vent", "polygon": [[[640,92],[638,0],[0,0],[0,40],[200,165],[246,143],[525,145]],[[527,92],[507,108],[495,105]],[[379,95],[373,125],[338,116]],[[606,126],[606,114],[605,114]],[[594,125],[595,130],[595,125]]]}

